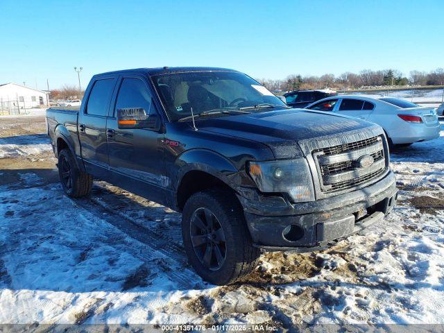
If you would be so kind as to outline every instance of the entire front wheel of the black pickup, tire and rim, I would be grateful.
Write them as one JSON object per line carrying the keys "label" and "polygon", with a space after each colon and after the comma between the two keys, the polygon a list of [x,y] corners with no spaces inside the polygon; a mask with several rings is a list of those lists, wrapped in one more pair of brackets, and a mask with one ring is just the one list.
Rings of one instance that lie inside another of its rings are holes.
{"label": "entire front wheel of the black pickup, tire and rim", "polygon": [[191,266],[212,284],[241,280],[255,268],[260,255],[241,205],[228,191],[193,194],[183,210],[182,237]]}

